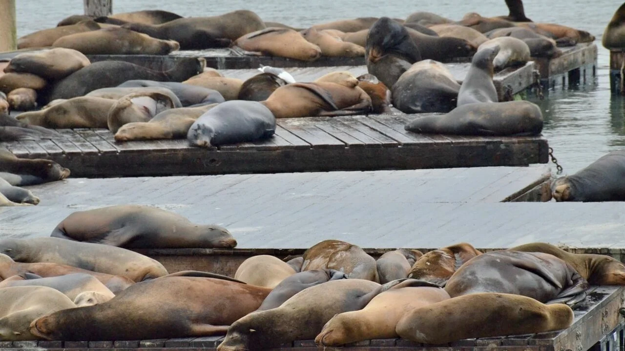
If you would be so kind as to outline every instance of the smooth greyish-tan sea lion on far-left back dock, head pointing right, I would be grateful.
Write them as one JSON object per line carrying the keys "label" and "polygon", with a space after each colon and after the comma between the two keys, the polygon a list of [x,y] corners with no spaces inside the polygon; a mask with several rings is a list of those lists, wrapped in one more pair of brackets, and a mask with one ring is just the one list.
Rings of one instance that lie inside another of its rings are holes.
{"label": "smooth greyish-tan sea lion on far-left back dock, head pointing right", "polygon": [[52,46],[86,55],[167,55],[180,49],[177,41],[155,39],[121,27],[70,34],[60,37]]}

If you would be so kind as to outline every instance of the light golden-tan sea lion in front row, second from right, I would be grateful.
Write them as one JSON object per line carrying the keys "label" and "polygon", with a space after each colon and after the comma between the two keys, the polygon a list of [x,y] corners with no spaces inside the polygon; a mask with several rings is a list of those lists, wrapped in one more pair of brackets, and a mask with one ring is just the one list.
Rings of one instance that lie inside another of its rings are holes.
{"label": "light golden-tan sea lion in front row, second from right", "polygon": [[406,280],[402,284],[405,283],[411,285],[382,292],[362,310],[332,317],[314,339],[315,344],[326,347],[397,338],[395,327],[407,311],[449,299],[449,294],[435,284],[419,280]]}

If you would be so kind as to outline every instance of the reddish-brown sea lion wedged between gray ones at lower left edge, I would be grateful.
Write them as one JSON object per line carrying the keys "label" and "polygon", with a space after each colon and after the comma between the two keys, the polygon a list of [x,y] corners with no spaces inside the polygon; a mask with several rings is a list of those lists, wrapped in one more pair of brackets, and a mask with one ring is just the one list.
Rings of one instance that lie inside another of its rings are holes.
{"label": "reddish-brown sea lion wedged between gray ones at lower left edge", "polygon": [[10,277],[13,277],[15,275],[24,275],[26,277],[29,274],[37,275],[37,277],[42,278],[59,277],[62,275],[74,273],[92,275],[102,284],[104,284],[109,290],[111,290],[113,294],[117,294],[118,292],[121,292],[122,290],[128,288],[130,285],[134,284],[133,280],[130,280],[126,277],[120,277],[118,275],[93,272],[91,270],[55,263],[15,262],[8,255],[0,254],[0,279],[9,279]]}

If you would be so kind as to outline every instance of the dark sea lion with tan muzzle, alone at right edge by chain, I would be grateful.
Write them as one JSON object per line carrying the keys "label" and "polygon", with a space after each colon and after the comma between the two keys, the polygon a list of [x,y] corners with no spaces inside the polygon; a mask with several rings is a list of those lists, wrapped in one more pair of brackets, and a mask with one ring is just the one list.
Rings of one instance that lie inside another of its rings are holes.
{"label": "dark sea lion with tan muzzle, alone at right edge by chain", "polygon": [[551,195],[561,201],[624,201],[625,149],[601,156],[576,174],[559,177],[551,183]]}

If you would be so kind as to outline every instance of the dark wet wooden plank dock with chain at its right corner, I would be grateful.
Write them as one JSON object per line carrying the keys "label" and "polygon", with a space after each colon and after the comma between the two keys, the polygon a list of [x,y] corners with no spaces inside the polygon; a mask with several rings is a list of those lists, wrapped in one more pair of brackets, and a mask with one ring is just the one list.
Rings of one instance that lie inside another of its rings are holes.
{"label": "dark wet wooden plank dock with chain at its right corner", "polygon": [[0,142],[18,157],[51,159],[73,177],[369,171],[527,166],[548,162],[536,137],[424,135],[411,115],[281,119],[265,141],[203,149],[186,139],[115,142],[108,129],[59,130],[66,139]]}

